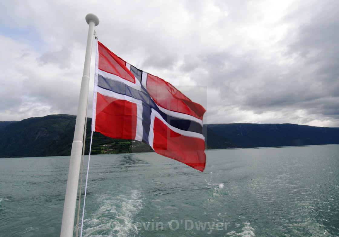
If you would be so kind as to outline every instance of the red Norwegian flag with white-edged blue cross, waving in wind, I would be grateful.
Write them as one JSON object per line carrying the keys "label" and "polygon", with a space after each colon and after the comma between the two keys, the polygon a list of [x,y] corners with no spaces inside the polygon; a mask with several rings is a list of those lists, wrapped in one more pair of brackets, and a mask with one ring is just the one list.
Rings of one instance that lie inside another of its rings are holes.
{"label": "red Norwegian flag with white-edged blue cross, waving in wind", "polygon": [[97,41],[92,131],[142,141],[160,155],[203,171],[205,112],[173,85],[125,62]]}

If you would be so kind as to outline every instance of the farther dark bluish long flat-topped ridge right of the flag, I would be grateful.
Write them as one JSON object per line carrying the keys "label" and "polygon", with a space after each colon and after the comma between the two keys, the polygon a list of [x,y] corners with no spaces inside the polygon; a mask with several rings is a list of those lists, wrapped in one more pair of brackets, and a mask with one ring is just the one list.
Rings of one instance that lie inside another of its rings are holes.
{"label": "farther dark bluish long flat-topped ridge right of the flag", "polygon": [[339,144],[339,129],[297,124],[207,124],[216,134],[242,147]]}

